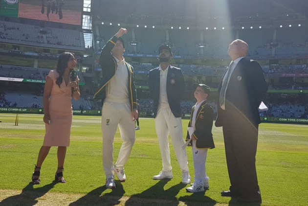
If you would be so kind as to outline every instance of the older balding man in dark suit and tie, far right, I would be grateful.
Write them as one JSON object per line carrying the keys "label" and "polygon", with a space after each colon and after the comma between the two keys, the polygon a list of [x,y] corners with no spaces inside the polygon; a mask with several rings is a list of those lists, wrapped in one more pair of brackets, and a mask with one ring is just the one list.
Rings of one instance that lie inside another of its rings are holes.
{"label": "older balding man in dark suit and tie, far right", "polygon": [[239,202],[261,203],[256,172],[258,107],[267,91],[263,70],[257,61],[246,59],[248,45],[233,41],[228,48],[232,59],[218,89],[218,116],[225,144],[230,190],[221,196],[238,197]]}

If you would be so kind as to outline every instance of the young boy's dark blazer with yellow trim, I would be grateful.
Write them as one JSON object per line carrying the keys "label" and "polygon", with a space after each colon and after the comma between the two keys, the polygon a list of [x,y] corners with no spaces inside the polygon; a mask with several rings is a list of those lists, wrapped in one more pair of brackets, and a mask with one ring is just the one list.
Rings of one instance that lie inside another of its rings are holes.
{"label": "young boy's dark blazer with yellow trim", "polygon": [[[193,114],[195,111],[195,106],[192,108],[192,114],[190,116],[190,121],[188,123],[188,127],[191,127],[191,122],[193,118]],[[213,127],[213,117],[214,111],[213,108],[208,105],[206,101],[204,101],[197,112],[196,123],[195,123],[195,132],[193,136],[196,137],[196,147],[197,148],[215,148],[213,135],[212,135],[212,127]],[[190,139],[189,133],[187,131],[186,141]],[[192,142],[190,142],[192,145]]]}

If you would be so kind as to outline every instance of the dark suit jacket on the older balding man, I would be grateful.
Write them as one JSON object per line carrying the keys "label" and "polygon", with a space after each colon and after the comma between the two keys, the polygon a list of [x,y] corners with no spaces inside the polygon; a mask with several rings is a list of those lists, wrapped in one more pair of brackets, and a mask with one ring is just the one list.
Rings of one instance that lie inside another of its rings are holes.
{"label": "dark suit jacket on the older balding man", "polygon": [[218,116],[215,126],[224,126],[238,119],[249,121],[253,125],[260,124],[258,107],[267,91],[267,83],[260,64],[246,58],[239,61],[228,83],[225,110],[222,110],[219,105],[221,83],[217,94]]}

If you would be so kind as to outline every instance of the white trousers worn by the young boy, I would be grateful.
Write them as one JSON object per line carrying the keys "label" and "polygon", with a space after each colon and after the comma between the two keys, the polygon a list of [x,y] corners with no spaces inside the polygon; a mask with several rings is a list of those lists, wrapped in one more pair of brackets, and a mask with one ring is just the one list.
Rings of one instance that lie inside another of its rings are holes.
{"label": "white trousers worn by the young boy", "polygon": [[193,140],[193,160],[194,160],[194,168],[195,168],[195,182],[194,186],[204,186],[204,183],[209,180],[206,175],[205,170],[205,161],[207,156],[207,148],[196,147],[196,140]]}

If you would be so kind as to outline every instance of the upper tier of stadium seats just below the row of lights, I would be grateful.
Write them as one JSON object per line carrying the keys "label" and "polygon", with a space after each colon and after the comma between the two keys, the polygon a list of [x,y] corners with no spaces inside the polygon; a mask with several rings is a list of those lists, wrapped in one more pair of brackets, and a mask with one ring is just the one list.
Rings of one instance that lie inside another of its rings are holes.
{"label": "upper tier of stadium seats just below the row of lights", "polygon": [[[227,46],[236,37],[234,30],[188,30],[128,28],[134,31],[135,44],[130,43],[132,35],[125,36],[126,53],[157,54],[157,48],[169,44],[174,55],[183,58],[228,59]],[[167,35],[168,31],[168,35]],[[116,26],[104,25],[99,28],[100,48],[117,32]],[[274,34],[276,40],[274,40]],[[308,54],[307,28],[275,29],[254,28],[242,29],[238,38],[249,44],[248,56],[256,58],[298,56]],[[200,34],[203,35],[201,42]],[[169,39],[167,40],[167,36]],[[185,39],[185,41],[183,41]],[[201,47],[200,47],[201,46]]]}

